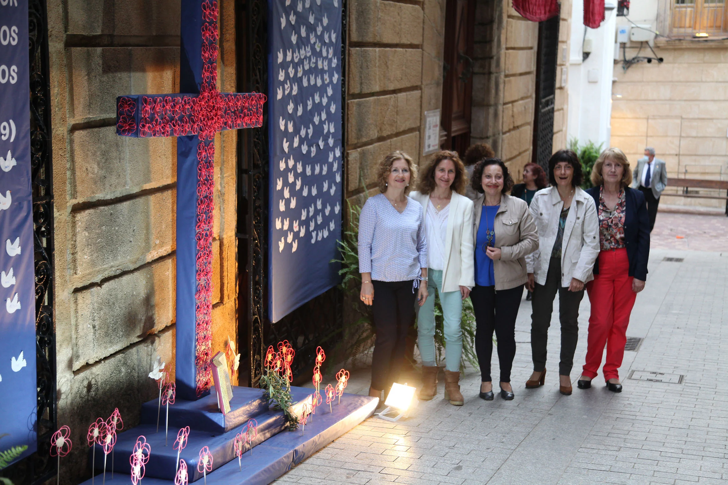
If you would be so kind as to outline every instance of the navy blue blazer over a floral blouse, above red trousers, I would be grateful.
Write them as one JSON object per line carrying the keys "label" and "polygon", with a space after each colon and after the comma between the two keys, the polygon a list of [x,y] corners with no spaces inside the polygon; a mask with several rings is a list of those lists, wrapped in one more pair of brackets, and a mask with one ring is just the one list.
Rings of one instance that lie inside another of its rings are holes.
{"label": "navy blue blazer over a floral blouse, above red trousers", "polygon": [[[599,208],[599,188],[586,191]],[[649,258],[649,215],[644,194],[633,188],[625,187],[625,244],[630,261],[630,276],[641,281],[647,279],[647,259]],[[594,274],[599,274],[599,258],[594,263]]]}

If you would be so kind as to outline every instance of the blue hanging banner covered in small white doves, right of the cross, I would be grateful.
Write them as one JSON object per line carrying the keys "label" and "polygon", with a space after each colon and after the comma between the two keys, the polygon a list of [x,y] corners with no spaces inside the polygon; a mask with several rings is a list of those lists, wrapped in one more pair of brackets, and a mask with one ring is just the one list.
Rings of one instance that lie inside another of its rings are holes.
{"label": "blue hanging banner covered in small white doves, right of the cross", "polygon": [[341,1],[269,0],[269,319],[339,283]]}

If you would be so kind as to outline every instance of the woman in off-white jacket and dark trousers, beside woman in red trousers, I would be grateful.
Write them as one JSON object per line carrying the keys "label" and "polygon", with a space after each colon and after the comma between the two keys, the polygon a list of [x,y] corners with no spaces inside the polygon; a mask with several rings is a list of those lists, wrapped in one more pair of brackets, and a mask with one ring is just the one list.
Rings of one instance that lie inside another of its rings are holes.
{"label": "woman in off-white jacket and dark trousers, beside woman in red trousers", "polygon": [[553,300],[558,292],[561,321],[559,391],[571,394],[571,367],[579,337],[579,303],[584,284],[592,280],[599,255],[599,220],[594,199],[579,187],[582,166],[571,150],[559,150],[548,161],[551,187],[531,200],[531,215],[539,233],[539,251],[526,262],[531,305],[531,356],[534,373],[526,388],[538,388],[546,376],[546,342]]}

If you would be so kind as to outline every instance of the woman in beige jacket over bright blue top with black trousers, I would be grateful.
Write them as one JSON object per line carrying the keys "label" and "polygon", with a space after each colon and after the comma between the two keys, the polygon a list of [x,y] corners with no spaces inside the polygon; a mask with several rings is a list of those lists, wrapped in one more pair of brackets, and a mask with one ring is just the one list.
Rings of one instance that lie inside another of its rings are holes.
{"label": "woman in beige jacket over bright blue top with black trousers", "polygon": [[515,318],[521,305],[526,254],[538,248],[538,236],[526,201],[507,196],[513,178],[500,159],[479,161],[472,188],[474,202],[475,287],[470,292],[475,310],[475,353],[480,365],[480,398],[493,399],[491,356],[493,332],[498,340],[501,397],[513,399],[510,369],[515,357]]}

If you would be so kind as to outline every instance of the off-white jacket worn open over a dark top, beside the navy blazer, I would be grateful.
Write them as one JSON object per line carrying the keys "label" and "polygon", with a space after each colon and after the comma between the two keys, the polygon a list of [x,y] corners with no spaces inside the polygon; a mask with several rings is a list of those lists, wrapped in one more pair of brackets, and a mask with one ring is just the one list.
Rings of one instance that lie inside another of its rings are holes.
{"label": "off-white jacket worn open over a dark top, beside the navy blazer", "polygon": [[[529,273],[538,284],[546,284],[551,251],[556,241],[558,220],[563,201],[555,187],[538,191],[531,201],[531,215],[539,233],[539,250],[526,259]],[[594,279],[592,270],[599,255],[599,218],[594,199],[577,187],[571,209],[566,216],[561,245],[561,286],[569,286],[571,278],[586,283]]]}

